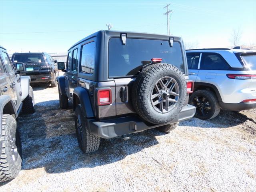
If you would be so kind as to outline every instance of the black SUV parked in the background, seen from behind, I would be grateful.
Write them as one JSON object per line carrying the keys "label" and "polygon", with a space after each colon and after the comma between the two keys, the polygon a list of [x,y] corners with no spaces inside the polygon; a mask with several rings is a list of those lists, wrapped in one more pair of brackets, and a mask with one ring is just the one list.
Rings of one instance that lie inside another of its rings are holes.
{"label": "black SUV parked in the background, seen from behind", "polygon": [[24,63],[25,70],[20,75],[30,76],[31,83],[50,82],[52,87],[57,86],[57,60],[48,53],[14,53],[12,62]]}

